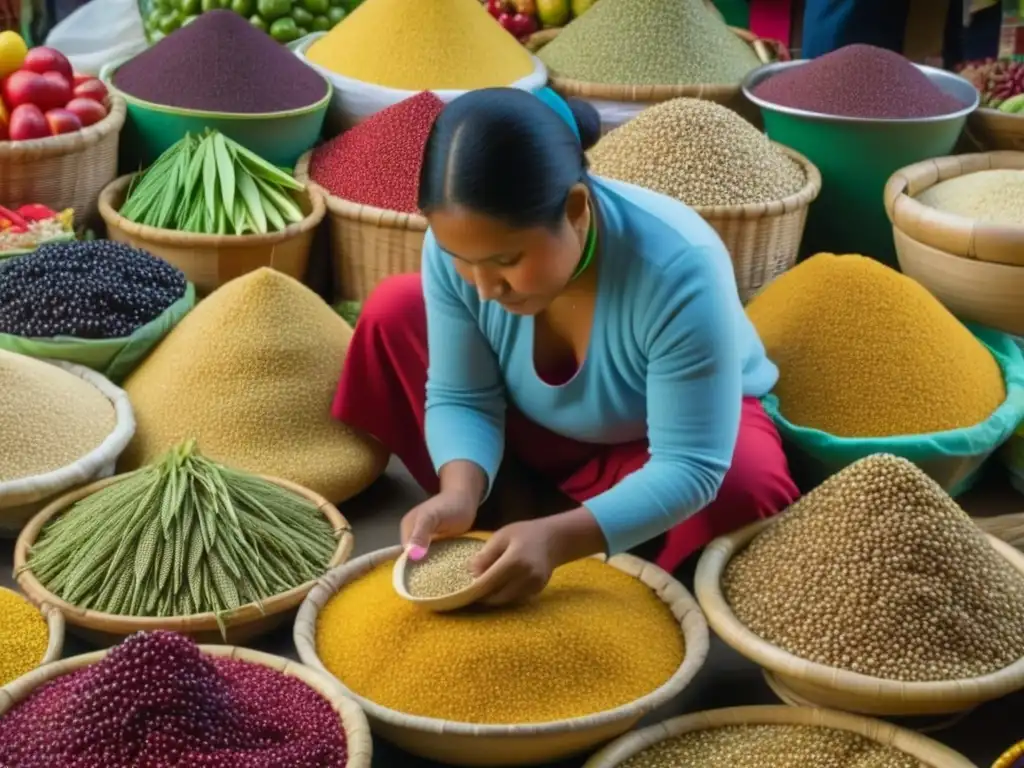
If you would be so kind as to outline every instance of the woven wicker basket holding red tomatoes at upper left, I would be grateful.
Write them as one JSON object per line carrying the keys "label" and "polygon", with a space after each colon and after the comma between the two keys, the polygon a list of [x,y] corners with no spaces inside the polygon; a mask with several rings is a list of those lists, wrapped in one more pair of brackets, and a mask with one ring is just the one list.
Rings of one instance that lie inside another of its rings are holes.
{"label": "woven wicker basket holding red tomatoes at upper left", "polygon": [[111,95],[110,114],[95,125],[31,141],[0,141],[0,205],[42,203],[75,209],[75,223],[96,213],[99,191],[118,175],[125,101]]}

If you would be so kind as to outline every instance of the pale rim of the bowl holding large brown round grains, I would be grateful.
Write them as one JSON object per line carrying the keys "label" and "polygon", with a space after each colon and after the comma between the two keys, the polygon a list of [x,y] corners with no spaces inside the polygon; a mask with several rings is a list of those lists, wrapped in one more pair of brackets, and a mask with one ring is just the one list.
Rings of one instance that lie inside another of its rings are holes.
{"label": "pale rim of the bowl holding large brown round grains", "polygon": [[[1024,687],[1024,656],[1001,670],[980,677],[904,682],[810,662],[756,635],[732,611],[722,590],[722,577],[732,558],[758,534],[775,524],[778,519],[779,516],[759,520],[737,531],[719,537],[708,545],[697,562],[694,591],[708,624],[723,642],[742,656],[771,673],[796,678],[819,688],[876,700],[898,700],[904,705],[941,698],[947,702],[963,703],[966,709]],[[984,536],[1011,566],[1024,574],[1024,553],[995,537],[988,534]]]}

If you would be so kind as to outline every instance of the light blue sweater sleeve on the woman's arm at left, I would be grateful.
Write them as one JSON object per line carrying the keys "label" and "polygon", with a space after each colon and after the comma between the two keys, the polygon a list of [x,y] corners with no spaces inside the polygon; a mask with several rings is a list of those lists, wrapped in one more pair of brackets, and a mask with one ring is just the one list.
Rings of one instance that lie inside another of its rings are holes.
{"label": "light blue sweater sleeve on the woman's arm at left", "polygon": [[445,259],[428,232],[423,246],[427,450],[438,472],[458,460],[479,465],[489,493],[505,449],[505,390],[497,355]]}

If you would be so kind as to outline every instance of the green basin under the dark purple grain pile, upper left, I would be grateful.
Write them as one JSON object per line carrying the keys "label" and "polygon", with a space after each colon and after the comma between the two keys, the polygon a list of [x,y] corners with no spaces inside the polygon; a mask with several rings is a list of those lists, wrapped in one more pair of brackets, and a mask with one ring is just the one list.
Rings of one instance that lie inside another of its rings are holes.
{"label": "green basin under the dark purple grain pile, upper left", "polygon": [[150,165],[186,133],[202,133],[213,128],[230,136],[267,162],[292,168],[298,159],[319,140],[334,90],[325,79],[327,92],[316,103],[299,110],[260,114],[230,114],[181,110],[136,98],[114,85],[114,74],[128,59],[112,61],[102,69],[100,79],[106,87],[121,94],[128,104],[121,145],[131,153],[123,157],[126,167]]}

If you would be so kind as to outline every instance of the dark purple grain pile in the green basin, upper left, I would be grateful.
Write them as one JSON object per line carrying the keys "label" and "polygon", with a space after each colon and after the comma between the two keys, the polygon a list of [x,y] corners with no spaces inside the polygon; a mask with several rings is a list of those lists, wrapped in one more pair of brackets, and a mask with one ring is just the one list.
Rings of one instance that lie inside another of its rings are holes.
{"label": "dark purple grain pile in the green basin, upper left", "polygon": [[114,85],[164,106],[238,115],[298,110],[327,81],[230,10],[203,13],[114,74]]}

